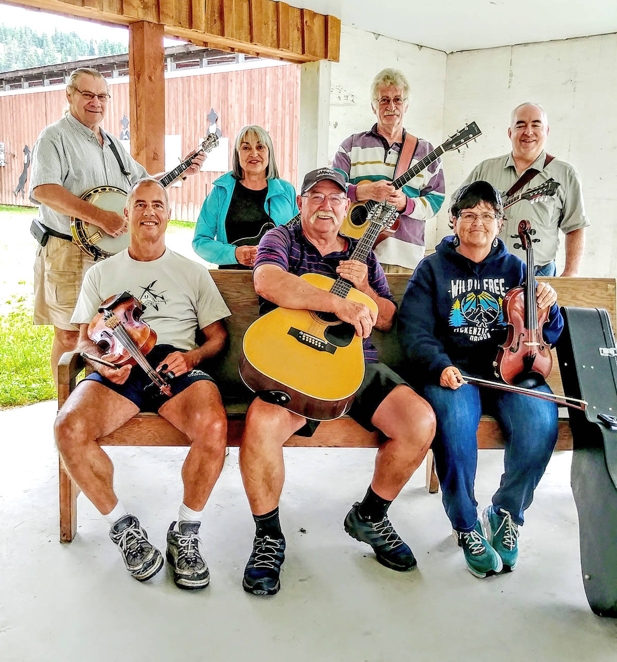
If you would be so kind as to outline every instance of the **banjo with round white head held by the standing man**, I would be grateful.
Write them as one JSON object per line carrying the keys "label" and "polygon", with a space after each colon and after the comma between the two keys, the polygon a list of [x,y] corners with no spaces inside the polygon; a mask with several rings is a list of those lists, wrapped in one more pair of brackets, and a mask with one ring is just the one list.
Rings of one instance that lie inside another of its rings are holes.
{"label": "banjo with round white head held by the standing man", "polygon": [[[207,135],[205,140],[202,141],[199,150],[196,154],[192,154],[185,161],[181,162],[173,170],[163,175],[160,179],[162,187],[167,188],[169,184],[173,183],[185,171],[191,167],[193,158],[203,152],[207,154],[211,152],[218,145],[218,136],[214,133]],[[117,214],[124,213],[124,205],[126,204],[126,191],[119,189],[117,186],[95,186],[89,189],[82,196],[82,200],[98,207],[105,209],[105,211],[115,211]],[[71,218],[71,234],[73,241],[81,250],[93,258],[93,260],[103,260],[109,258],[121,250],[128,247],[130,242],[130,235],[128,232],[121,234],[119,237],[113,237],[99,226],[94,223],[89,223],[81,218],[73,216]]]}

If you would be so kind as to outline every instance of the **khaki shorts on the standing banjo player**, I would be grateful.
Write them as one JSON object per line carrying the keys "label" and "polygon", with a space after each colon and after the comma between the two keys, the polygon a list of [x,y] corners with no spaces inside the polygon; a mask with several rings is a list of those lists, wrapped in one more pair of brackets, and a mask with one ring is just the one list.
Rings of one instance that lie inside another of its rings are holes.
{"label": "khaki shorts on the standing banjo player", "polygon": [[71,316],[81,281],[94,261],[66,239],[50,237],[39,246],[34,260],[34,324],[53,324],[77,331]]}

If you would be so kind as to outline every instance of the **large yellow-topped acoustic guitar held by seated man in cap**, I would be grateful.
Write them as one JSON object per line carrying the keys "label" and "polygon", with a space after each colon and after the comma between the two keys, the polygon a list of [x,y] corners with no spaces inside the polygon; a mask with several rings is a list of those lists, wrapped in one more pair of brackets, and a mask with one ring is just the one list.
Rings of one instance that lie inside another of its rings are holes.
{"label": "large yellow-topped acoustic guitar held by seated man in cap", "polygon": [[[377,235],[395,214],[395,207],[388,203],[374,207],[350,259],[365,261]],[[377,312],[375,301],[342,277],[334,280],[306,273],[301,278]],[[362,338],[352,324],[331,313],[275,308],[246,330],[240,377],[267,402],[314,420],[338,418],[350,408],[364,378]]]}

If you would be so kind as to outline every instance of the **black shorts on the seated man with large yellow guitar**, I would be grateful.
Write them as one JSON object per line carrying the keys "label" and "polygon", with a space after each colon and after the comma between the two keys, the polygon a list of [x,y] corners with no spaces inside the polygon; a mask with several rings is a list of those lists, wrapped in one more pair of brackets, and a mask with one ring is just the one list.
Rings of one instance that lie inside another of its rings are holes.
{"label": "black shorts on the seated man with large yellow guitar", "polygon": [[[371,418],[373,418],[373,414],[381,402],[399,384],[409,386],[403,377],[399,377],[385,363],[367,363],[364,369],[364,379],[359,389],[357,389],[350,410],[347,412],[348,416],[353,418],[365,430],[375,432],[377,428],[371,423]],[[295,434],[301,437],[312,437],[320,422],[318,420],[307,420],[305,425]]]}

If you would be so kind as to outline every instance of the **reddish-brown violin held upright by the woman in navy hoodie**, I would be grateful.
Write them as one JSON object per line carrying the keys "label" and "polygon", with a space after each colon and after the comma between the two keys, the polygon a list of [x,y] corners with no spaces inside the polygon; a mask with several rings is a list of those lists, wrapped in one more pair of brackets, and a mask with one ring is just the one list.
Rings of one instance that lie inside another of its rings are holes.
{"label": "reddish-brown violin held upright by the woman in navy hoodie", "polygon": [[532,244],[540,240],[532,239],[534,234],[536,230],[528,220],[518,224],[520,244],[514,244],[514,248],[525,249],[527,274],[524,285],[513,287],[504,297],[502,310],[508,325],[508,337],[493,363],[496,377],[501,377],[507,384],[528,389],[546,384],[546,377],[553,367],[551,349],[542,336],[550,307],[538,310],[536,302]]}

